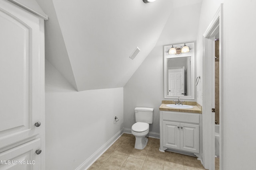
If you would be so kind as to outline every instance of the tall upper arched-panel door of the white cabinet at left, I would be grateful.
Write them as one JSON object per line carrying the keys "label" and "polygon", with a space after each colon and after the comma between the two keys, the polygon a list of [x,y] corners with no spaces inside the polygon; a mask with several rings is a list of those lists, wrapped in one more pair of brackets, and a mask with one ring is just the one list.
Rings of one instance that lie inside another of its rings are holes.
{"label": "tall upper arched-panel door of the white cabinet at left", "polygon": [[39,133],[39,22],[0,0],[0,148]]}

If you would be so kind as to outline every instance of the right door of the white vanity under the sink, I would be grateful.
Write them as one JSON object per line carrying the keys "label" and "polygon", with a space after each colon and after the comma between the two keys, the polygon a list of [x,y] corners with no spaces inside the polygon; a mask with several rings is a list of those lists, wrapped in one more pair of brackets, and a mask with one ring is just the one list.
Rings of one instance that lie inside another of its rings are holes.
{"label": "right door of the white vanity under the sink", "polygon": [[199,125],[180,123],[180,149],[199,153]]}

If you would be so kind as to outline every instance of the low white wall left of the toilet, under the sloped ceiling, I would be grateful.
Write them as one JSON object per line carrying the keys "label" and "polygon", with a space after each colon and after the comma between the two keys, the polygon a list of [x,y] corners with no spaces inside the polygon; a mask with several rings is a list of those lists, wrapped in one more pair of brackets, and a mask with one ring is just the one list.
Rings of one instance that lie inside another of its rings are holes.
{"label": "low white wall left of the toilet, under the sloped ceiling", "polygon": [[78,168],[123,127],[123,88],[77,92],[47,60],[45,98],[47,170]]}

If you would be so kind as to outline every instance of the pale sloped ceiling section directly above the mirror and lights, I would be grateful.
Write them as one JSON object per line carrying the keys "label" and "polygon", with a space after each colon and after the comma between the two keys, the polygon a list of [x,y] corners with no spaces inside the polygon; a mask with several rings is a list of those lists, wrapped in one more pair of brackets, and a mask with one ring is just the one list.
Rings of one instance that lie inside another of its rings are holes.
{"label": "pale sloped ceiling section directly above the mirror and lights", "polygon": [[174,1],[174,8],[172,8],[156,46],[195,42],[201,4],[202,0]]}

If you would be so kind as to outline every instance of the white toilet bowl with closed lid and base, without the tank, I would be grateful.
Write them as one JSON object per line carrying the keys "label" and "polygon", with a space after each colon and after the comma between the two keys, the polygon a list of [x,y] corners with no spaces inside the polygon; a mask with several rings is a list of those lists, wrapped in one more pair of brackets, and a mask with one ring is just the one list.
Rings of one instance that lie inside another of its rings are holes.
{"label": "white toilet bowl with closed lid and base, without the tank", "polygon": [[137,122],[132,125],[132,135],[135,136],[135,149],[144,149],[147,146],[148,135],[149,132],[149,124],[143,122]]}

